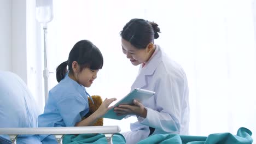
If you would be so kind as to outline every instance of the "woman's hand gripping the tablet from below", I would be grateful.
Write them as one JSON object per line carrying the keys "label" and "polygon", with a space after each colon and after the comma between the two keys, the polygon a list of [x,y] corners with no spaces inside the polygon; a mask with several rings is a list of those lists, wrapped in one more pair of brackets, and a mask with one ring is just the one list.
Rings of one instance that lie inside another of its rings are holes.
{"label": "woman's hand gripping the tablet from below", "polygon": [[114,108],[114,112],[118,116],[121,115],[138,115],[140,117],[147,117],[147,109],[145,109],[142,103],[139,103],[137,100],[133,100],[134,105],[119,105]]}

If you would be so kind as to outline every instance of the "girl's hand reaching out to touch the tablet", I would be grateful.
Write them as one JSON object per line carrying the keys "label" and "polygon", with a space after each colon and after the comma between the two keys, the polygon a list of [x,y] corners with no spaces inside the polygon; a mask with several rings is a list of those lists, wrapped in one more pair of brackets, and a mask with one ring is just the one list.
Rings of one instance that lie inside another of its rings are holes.
{"label": "girl's hand reaching out to touch the tablet", "polygon": [[97,113],[97,117],[101,118],[108,110],[112,109],[113,106],[108,107],[113,101],[117,100],[116,98],[108,99],[106,98],[100,107],[95,111]]}

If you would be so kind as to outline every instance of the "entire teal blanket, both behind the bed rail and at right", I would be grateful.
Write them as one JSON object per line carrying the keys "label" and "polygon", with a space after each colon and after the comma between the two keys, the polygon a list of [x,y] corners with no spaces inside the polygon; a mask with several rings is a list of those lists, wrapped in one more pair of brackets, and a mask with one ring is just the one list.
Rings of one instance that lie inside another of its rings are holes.
{"label": "entire teal blanket, both behind the bed rail and at right", "polygon": [[[253,139],[252,132],[247,128],[240,128],[237,135],[230,133],[211,134],[209,136],[185,136],[177,134],[155,134],[149,136],[147,139],[138,142],[137,144],[160,143],[160,144],[251,144]],[[114,144],[125,143],[125,138],[121,134],[113,136]],[[107,139],[103,134],[80,134],[80,135],[65,135],[63,137],[63,144],[87,144],[87,143],[107,143]]]}

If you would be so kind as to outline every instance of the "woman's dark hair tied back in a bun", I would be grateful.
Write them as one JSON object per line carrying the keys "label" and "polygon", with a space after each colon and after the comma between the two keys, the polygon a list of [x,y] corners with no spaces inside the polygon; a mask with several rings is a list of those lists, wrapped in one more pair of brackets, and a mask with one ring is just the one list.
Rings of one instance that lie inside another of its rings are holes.
{"label": "woman's dark hair tied back in a bun", "polygon": [[159,37],[160,28],[155,22],[143,19],[131,19],[120,32],[120,36],[129,41],[137,49],[146,49],[149,43]]}

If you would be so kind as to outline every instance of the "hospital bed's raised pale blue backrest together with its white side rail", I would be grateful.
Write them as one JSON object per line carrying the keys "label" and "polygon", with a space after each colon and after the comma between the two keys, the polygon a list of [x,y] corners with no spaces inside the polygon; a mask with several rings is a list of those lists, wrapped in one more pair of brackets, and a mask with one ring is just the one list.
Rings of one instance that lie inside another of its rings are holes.
{"label": "hospital bed's raised pale blue backrest together with its white side rail", "polygon": [[0,138],[2,137],[2,140],[7,140],[9,135],[9,143],[19,144],[18,136],[25,135],[22,139],[26,142],[21,143],[34,143],[29,140],[30,137],[26,139],[26,136],[51,134],[55,136],[57,143],[62,143],[65,134],[101,133],[106,136],[108,143],[112,143],[113,134],[120,132],[119,126],[38,128],[38,115],[38,107],[25,82],[16,74],[0,70]]}

